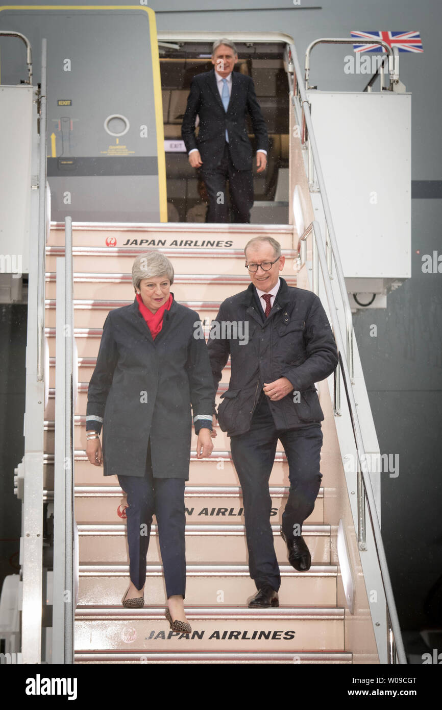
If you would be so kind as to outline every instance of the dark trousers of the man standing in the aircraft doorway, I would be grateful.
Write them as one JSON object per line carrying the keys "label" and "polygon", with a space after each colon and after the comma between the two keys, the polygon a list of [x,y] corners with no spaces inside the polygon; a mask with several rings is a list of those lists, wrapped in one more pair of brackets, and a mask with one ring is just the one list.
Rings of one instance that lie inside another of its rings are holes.
{"label": "dark trousers of the man standing in the aircraft doorway", "polygon": [[227,141],[224,146],[221,163],[211,170],[205,170],[203,163],[199,173],[206,183],[206,190],[209,195],[206,222],[229,221],[226,180],[228,180],[232,204],[232,222],[250,222],[250,209],[253,207],[252,170],[236,170]]}

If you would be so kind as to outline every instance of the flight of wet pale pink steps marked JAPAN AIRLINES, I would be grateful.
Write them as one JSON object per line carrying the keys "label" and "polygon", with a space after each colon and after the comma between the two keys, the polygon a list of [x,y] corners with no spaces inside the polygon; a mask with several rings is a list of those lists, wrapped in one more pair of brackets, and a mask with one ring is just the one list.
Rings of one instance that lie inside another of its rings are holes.
{"label": "flight of wet pale pink steps marked JAPAN AIRLINES", "polygon": [[[87,461],[87,386],[94,371],[102,326],[109,310],[133,301],[133,259],[146,249],[164,251],[175,269],[172,292],[197,310],[208,325],[221,301],[247,288],[243,249],[252,236],[280,241],[286,262],[282,276],[296,285],[292,226],[206,225],[76,226],[73,229],[74,335],[79,392],[74,422],[75,518],[79,532],[79,594],[75,613],[77,663],[351,663],[344,650],[343,608],[337,606],[338,568],[331,564],[331,526],[324,520],[324,488],[302,534],[311,551],[308,572],[287,561],[280,521],[289,480],[280,442],[270,476],[275,550],[280,562],[280,607],[249,609],[255,594],[247,566],[241,488],[229,439],[217,427],[214,451],[198,460],[192,434],[186,484],[187,589],[185,608],[192,634],[173,633],[164,615],[165,585],[158,535],[150,537],[145,606],[123,608],[128,586],[126,498],[116,476]],[[187,242],[187,244],[185,244]],[[197,246],[195,246],[195,244]],[[200,246],[202,244],[202,246]],[[53,486],[55,416],[55,271],[64,256],[64,230],[52,226],[46,250],[46,336],[50,351],[50,393],[45,410],[45,487]],[[226,390],[230,368],[216,396]],[[325,440],[325,439],[324,439]],[[321,473],[327,461],[321,458]],[[323,479],[324,481],[324,479]]]}

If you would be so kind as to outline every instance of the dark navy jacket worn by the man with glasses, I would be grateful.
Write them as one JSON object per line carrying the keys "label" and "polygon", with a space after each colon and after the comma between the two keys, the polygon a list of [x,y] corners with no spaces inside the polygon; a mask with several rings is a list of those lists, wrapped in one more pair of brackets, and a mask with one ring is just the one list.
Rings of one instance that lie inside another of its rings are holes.
{"label": "dark navy jacket worn by the man with glasses", "polygon": [[[219,425],[228,436],[250,429],[263,383],[280,377],[292,383],[293,392],[281,400],[269,400],[277,429],[324,420],[314,383],[328,377],[338,364],[333,333],[319,297],[280,280],[267,318],[260,312],[255,287],[250,283],[245,291],[221,303],[211,324],[207,348],[216,387],[228,356],[231,358],[228,391],[221,395],[223,402],[217,413]],[[238,333],[243,342],[236,337]]]}

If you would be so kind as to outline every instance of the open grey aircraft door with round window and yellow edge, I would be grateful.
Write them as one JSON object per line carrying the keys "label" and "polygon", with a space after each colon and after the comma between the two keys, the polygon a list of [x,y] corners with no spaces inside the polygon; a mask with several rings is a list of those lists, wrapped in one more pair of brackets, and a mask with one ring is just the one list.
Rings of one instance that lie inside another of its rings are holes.
{"label": "open grey aircraft door with round window and yellow edge", "polygon": [[[41,40],[48,40],[48,181],[55,221],[66,214],[76,221],[161,221],[163,136],[162,119],[157,126],[155,116],[151,16],[143,9],[0,11],[0,29],[31,42],[34,84]],[[0,52],[1,83],[26,78],[24,45],[2,38]]]}

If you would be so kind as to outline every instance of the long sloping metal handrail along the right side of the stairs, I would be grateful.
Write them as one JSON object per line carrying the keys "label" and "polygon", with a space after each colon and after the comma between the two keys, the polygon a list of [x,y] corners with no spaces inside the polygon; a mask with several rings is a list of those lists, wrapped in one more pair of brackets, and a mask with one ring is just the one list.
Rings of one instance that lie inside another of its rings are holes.
{"label": "long sloping metal handrail along the right side of the stairs", "polygon": [[[326,229],[327,229],[328,240],[329,240],[328,246],[329,246],[329,249],[331,250],[331,256],[333,257],[335,267],[336,267],[336,275],[338,277],[337,281],[338,281],[338,288],[339,288],[339,291],[341,294],[341,302],[342,302],[342,305],[344,306],[344,310],[347,314],[348,310],[350,309],[350,302],[348,300],[348,293],[347,293],[346,282],[345,282],[345,278],[344,278],[344,274],[343,274],[341,256],[339,254],[338,242],[336,240],[336,234],[335,234],[334,226],[333,226],[333,219],[331,217],[331,209],[330,209],[330,204],[328,202],[328,195],[327,195],[327,191],[326,191],[324,174],[322,172],[321,161],[319,159],[319,150],[318,150],[318,146],[316,144],[316,138],[314,136],[314,129],[313,129],[313,123],[311,121],[309,101],[308,101],[308,98],[306,95],[306,89],[304,87],[304,83],[302,81],[302,70],[301,70],[301,66],[299,65],[299,59],[297,56],[296,48],[294,47],[293,44],[289,45],[288,59],[289,59],[289,72],[291,70],[291,67],[293,67],[293,70],[294,70],[294,81],[292,84],[292,88],[293,88],[292,104],[294,106],[295,112],[298,115],[297,109],[299,109],[300,107],[297,106],[297,96],[298,96],[298,92],[299,92],[300,104],[302,107],[302,124],[303,124],[302,138],[303,138],[303,142],[305,142],[307,140],[307,136],[308,136],[309,153],[311,155],[311,166],[312,166],[313,170],[316,170],[316,178],[317,178],[318,185],[319,185],[319,196],[321,198],[321,202],[322,202],[322,205],[324,208],[324,216],[326,219]],[[289,75],[289,77],[290,77],[290,75]],[[305,129],[306,129],[306,131],[305,131]],[[309,183],[310,183],[310,180],[309,180]],[[389,578],[389,572],[388,572],[388,567],[387,567],[387,558],[385,557],[385,550],[384,550],[384,545],[382,542],[380,522],[379,522],[379,518],[377,517],[375,496],[374,496],[374,493],[372,490],[372,484],[371,484],[370,477],[369,477],[367,457],[365,455],[365,449],[364,449],[364,445],[363,445],[362,430],[360,427],[359,417],[358,417],[358,413],[356,410],[355,398],[354,398],[354,394],[353,394],[352,375],[350,374],[350,368],[348,366],[348,359],[345,354],[346,349],[344,348],[344,345],[343,345],[343,337],[341,334],[341,325],[340,325],[338,317],[336,315],[336,302],[335,302],[334,296],[333,296],[331,278],[330,278],[330,273],[328,271],[327,257],[326,257],[326,253],[324,250],[324,245],[322,243],[322,236],[321,236],[321,229],[319,226],[319,222],[314,220],[307,227],[307,229],[304,230],[304,234],[302,234],[302,236],[301,236],[302,242],[305,242],[306,236],[308,236],[310,231],[313,235],[312,241],[314,243],[314,248],[316,250],[316,255],[314,255],[314,260],[316,261],[316,258],[319,259],[319,263],[321,265],[321,273],[322,273],[323,280],[324,280],[324,287],[326,289],[328,305],[330,307],[331,321],[333,324],[333,332],[334,332],[335,339],[336,339],[336,345],[338,347],[339,366],[340,366],[340,370],[341,370],[341,373],[343,376],[344,387],[346,390],[346,398],[347,398],[348,409],[349,409],[349,413],[350,413],[350,420],[351,420],[351,424],[353,427],[353,436],[355,437],[356,449],[358,451],[358,460],[359,460],[360,470],[361,470],[361,474],[362,474],[361,477],[362,477],[362,481],[363,481],[363,487],[361,487],[361,492],[363,490],[365,492],[365,496],[366,496],[365,500],[367,501],[367,507],[368,507],[371,528],[372,528],[373,537],[375,540],[375,549],[376,549],[376,554],[377,554],[377,560],[378,560],[379,567],[380,567],[382,586],[383,586],[383,589],[385,592],[385,599],[386,599],[386,603],[387,603],[387,648],[389,649],[388,662],[394,662],[397,657],[400,664],[406,664],[407,657],[405,655],[404,645],[402,642],[402,635],[401,635],[401,630],[400,630],[400,626],[399,626],[399,618],[397,616],[397,609],[396,609],[396,605],[394,603],[392,584],[391,584],[391,580]],[[351,313],[351,310],[350,310],[350,313]],[[348,332],[348,326],[347,326],[347,332]],[[352,328],[350,331],[350,336],[351,336],[350,351],[353,353],[353,323],[352,323]],[[338,380],[339,380],[339,378],[338,378]],[[361,496],[358,496],[358,510],[362,510],[362,503],[363,503],[363,501],[362,501]],[[391,632],[390,632],[390,627],[391,627]]]}

